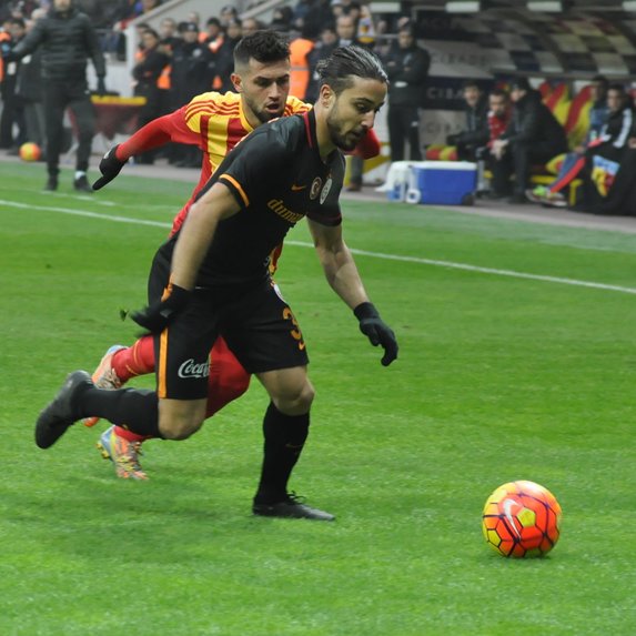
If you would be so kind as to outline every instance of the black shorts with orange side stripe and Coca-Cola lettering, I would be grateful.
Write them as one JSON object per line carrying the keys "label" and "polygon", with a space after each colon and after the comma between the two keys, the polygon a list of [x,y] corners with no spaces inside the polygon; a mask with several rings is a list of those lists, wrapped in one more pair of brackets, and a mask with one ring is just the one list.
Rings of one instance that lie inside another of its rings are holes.
{"label": "black shorts with orange side stripe and Coca-Cola lettering", "polygon": [[[153,267],[151,299],[162,269]],[[159,397],[208,396],[210,350],[219,335],[249,373],[309,363],[294,314],[271,280],[241,290],[196,290],[189,306],[154,339]]]}

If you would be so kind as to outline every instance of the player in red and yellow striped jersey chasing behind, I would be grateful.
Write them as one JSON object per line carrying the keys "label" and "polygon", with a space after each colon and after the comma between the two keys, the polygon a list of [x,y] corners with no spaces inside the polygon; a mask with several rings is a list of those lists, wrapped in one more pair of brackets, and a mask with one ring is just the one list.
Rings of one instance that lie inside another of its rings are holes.
{"label": "player in red and yellow striped jersey chasing behind", "polygon": [[[201,176],[190,200],[174,218],[176,232],[203,185],[214,173],[228,152],[245,135],[272,119],[302,113],[311,105],[289,95],[290,51],[287,40],[274,31],[258,31],[241,40],[234,50],[232,80],[236,93],[208,92],[171,114],[159,118],[134,133],[128,141],[112,148],[102,162],[102,176],[93,188],[99,190],[112,181],[125,162],[135,154],[169,142],[195,144],[203,151]],[[377,138],[369,130],[357,144],[364,158],[380,151]],[[270,272],[276,269],[282,245],[270,256]],[[93,373],[100,388],[120,388],[131,377],[154,372],[154,344],[151,336],[139,339],[132,346],[111,346]],[[235,359],[220,336],[210,354],[209,400],[206,417],[241,396],[250,384],[250,374]],[[98,417],[84,424],[93,426]],[[100,437],[98,448],[114,464],[122,478],[148,478],[139,455],[144,437],[121,426],[111,426]]]}

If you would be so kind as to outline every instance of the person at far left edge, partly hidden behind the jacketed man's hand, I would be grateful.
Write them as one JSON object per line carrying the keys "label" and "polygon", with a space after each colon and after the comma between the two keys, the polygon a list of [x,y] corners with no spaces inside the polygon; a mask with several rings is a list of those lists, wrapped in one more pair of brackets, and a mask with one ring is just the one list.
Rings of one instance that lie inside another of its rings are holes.
{"label": "person at far left edge, partly hidden behind the jacketed man's hand", "polygon": [[[27,26],[22,18],[11,18],[8,22],[8,40],[2,42],[3,54],[10,53],[24,39]],[[8,61],[4,64],[4,72],[0,82],[0,94],[2,95],[2,115],[0,115],[0,148],[9,149],[9,154],[18,154],[19,148],[27,140],[27,127],[24,123],[24,111],[20,103],[20,98],[16,93],[20,62]],[[13,139],[13,127],[18,128],[18,135]]]}

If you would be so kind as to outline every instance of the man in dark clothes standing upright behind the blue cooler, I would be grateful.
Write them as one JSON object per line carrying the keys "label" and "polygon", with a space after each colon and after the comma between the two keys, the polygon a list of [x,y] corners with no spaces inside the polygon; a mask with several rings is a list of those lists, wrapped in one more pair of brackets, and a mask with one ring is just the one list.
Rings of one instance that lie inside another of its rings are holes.
{"label": "man in dark clothes standing upright behind the blue cooler", "polygon": [[384,67],[391,81],[386,115],[391,161],[404,160],[406,142],[410,159],[421,161],[420,109],[424,105],[431,55],[415,42],[415,31],[411,23],[400,28],[397,47],[388,52]]}

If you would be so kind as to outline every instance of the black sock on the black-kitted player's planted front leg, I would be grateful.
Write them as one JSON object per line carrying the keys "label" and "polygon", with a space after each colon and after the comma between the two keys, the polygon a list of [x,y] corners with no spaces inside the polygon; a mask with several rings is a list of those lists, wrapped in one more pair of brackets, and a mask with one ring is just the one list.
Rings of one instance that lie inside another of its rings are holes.
{"label": "black sock on the black-kitted player's planted front leg", "polygon": [[254,501],[273,504],[284,499],[287,481],[307,438],[310,414],[285,415],[270,403],[263,420],[265,436],[261,483]]}

